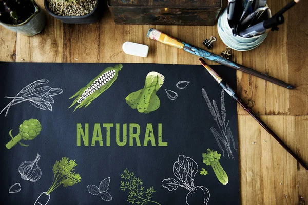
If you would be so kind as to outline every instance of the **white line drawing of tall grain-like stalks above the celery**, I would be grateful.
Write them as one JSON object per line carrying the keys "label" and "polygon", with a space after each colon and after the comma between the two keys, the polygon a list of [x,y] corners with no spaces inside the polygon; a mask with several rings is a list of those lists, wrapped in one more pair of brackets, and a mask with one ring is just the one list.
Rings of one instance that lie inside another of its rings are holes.
{"label": "white line drawing of tall grain-like stalks above the celery", "polygon": [[[234,159],[232,150],[231,150],[231,144],[233,145],[233,148],[235,148],[235,141],[231,132],[231,128],[229,128],[229,121],[226,122],[226,109],[225,109],[225,101],[224,101],[224,90],[221,91],[221,114],[218,109],[218,106],[216,104],[216,101],[213,100],[212,103],[210,102],[208,95],[206,91],[202,88],[202,95],[205,99],[205,102],[208,106],[208,109],[213,116],[214,121],[216,121],[217,127],[219,128],[219,132],[216,130],[216,128],[213,126],[210,128],[211,133],[213,134],[218,147],[222,151],[222,155],[224,156],[225,151],[228,154],[228,157],[231,159]],[[223,146],[222,146],[223,145]],[[224,148],[223,148],[224,147]]]}

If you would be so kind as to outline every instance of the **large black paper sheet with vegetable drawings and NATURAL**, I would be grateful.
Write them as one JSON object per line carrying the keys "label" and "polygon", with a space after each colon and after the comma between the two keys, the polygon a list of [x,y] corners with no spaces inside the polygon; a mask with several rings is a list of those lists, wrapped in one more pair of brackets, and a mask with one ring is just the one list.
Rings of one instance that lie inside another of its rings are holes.
{"label": "large black paper sheet with vegetable drawings and NATURAL", "polygon": [[116,65],[0,63],[2,201],[239,204],[236,101],[201,65]]}

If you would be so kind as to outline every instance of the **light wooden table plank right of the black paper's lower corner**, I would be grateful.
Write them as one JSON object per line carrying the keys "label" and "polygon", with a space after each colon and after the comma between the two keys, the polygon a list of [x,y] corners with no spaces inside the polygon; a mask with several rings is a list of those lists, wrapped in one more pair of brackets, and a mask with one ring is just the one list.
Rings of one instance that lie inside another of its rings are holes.
{"label": "light wooden table plank right of the black paper's lower corner", "polygon": [[[261,116],[308,163],[308,116]],[[251,116],[238,116],[242,204],[298,204],[308,197],[307,170]]]}

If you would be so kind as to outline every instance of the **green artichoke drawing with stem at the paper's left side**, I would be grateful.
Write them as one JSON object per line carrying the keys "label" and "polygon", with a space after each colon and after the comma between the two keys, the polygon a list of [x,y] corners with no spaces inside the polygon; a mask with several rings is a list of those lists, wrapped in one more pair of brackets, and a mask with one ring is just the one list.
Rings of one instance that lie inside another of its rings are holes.
{"label": "green artichoke drawing with stem at the paper's left side", "polygon": [[17,143],[19,143],[21,146],[28,146],[20,142],[20,140],[33,140],[35,137],[37,137],[42,130],[42,126],[40,121],[37,119],[29,119],[25,120],[23,124],[19,127],[19,133],[17,136],[12,136],[12,130],[9,132],[10,136],[12,137],[12,140],[9,141],[6,144],[6,147],[8,149],[11,149],[14,147]]}

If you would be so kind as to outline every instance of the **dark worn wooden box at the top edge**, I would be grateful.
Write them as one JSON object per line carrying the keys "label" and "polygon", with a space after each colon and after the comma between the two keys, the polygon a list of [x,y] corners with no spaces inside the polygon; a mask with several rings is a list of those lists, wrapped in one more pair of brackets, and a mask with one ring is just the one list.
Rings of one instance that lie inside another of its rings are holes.
{"label": "dark worn wooden box at the top edge", "polygon": [[115,24],[212,26],[222,1],[108,0],[108,6]]}

